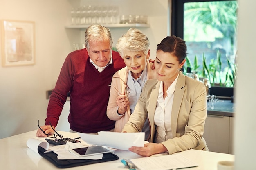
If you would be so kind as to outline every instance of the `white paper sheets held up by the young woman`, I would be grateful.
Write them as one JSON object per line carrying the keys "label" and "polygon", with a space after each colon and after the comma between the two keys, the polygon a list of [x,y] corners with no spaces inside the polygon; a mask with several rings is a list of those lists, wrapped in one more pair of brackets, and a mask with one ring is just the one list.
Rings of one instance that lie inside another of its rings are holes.
{"label": "white paper sheets held up by the young woman", "polygon": [[132,146],[144,146],[144,132],[138,133],[121,133],[100,131],[98,135],[77,133],[81,139],[88,144],[107,146],[109,148],[128,150]]}

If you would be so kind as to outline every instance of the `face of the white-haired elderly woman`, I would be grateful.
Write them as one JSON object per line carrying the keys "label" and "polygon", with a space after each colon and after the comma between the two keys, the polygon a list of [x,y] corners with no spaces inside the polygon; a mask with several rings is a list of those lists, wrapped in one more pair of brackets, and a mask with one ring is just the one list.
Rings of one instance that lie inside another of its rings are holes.
{"label": "face of the white-haired elderly woman", "polygon": [[134,52],[124,50],[124,63],[132,73],[141,74],[146,67],[146,60],[148,58],[149,52],[145,55],[142,51]]}

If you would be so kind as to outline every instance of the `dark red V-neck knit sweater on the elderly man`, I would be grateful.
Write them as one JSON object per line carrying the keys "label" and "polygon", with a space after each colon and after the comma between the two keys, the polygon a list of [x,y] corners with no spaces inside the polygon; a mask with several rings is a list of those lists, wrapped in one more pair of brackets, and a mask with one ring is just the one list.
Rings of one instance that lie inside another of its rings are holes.
{"label": "dark red V-neck knit sweater on the elderly man", "polygon": [[70,92],[70,129],[82,133],[97,133],[114,128],[115,121],[106,115],[112,76],[125,67],[124,60],[112,52],[112,64],[101,73],[90,63],[87,50],[71,52],[61,68],[55,88],[50,96],[47,118],[56,127],[63,105]]}

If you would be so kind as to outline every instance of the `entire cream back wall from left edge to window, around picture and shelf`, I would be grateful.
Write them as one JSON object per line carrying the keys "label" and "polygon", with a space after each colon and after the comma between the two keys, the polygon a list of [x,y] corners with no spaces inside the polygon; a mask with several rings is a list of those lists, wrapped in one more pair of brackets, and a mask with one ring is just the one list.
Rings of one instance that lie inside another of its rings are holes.
{"label": "entire cream back wall from left edge to window, around picture and shelf", "polygon": [[[0,139],[37,129],[38,119],[40,125],[45,123],[46,91],[54,88],[72,43],[84,42],[84,29],[64,27],[70,22],[71,7],[85,3],[117,4],[121,14],[148,15],[150,28],[141,31],[150,39],[150,58],[155,58],[157,44],[167,36],[168,0],[0,0],[0,20],[34,21],[36,31],[35,65],[2,67],[0,60]],[[126,31],[111,29],[114,46]]]}

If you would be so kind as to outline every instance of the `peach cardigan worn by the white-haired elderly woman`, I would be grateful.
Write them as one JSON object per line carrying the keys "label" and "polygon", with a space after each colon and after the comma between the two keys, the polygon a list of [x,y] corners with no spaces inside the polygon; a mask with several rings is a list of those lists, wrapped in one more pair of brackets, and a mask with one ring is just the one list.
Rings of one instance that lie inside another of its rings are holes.
{"label": "peach cardigan worn by the white-haired elderly woman", "polygon": [[[152,79],[156,78],[155,70],[151,69],[151,66],[153,63],[149,63],[147,60],[147,78]],[[127,67],[122,68],[121,70],[117,71],[113,77],[120,77],[124,82],[127,83],[129,69]],[[121,94],[125,94],[126,86],[119,78],[113,78],[111,82],[111,88],[110,88],[110,96],[108,100],[108,107],[107,107],[107,116],[110,120],[115,120],[115,132],[121,132],[126,122],[128,122],[130,118],[130,106],[127,107],[127,111],[123,115],[117,114],[117,103],[116,98],[120,94],[117,92],[117,90]]]}

